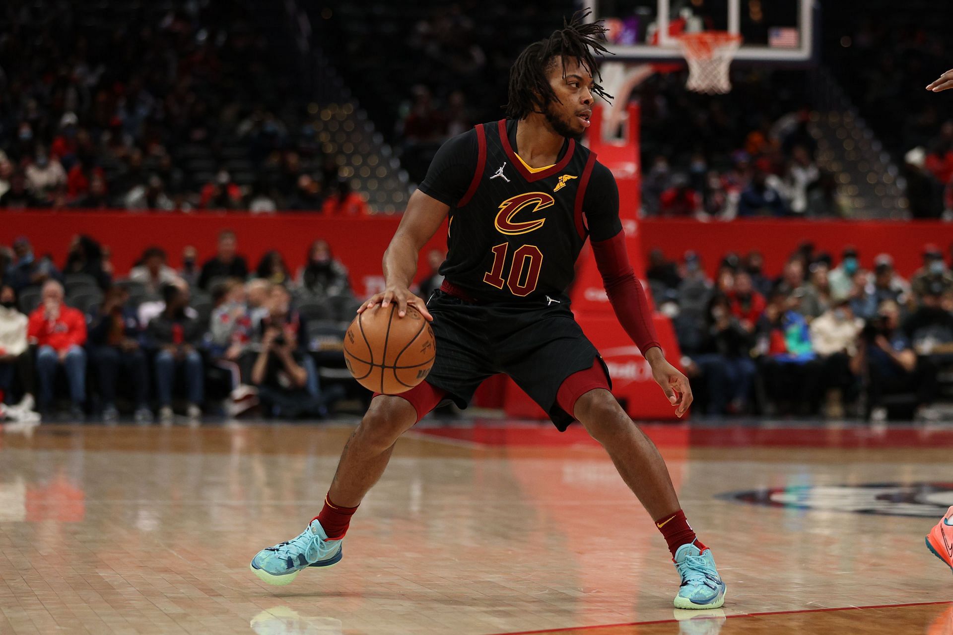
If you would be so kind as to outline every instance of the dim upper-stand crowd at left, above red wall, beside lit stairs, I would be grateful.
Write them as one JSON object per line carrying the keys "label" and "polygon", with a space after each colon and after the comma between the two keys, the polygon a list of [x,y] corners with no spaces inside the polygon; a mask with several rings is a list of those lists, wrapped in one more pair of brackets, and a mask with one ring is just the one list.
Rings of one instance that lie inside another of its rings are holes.
{"label": "dim upper-stand crowd at left, above red wall, beside lit stairs", "polygon": [[0,9],[0,208],[368,213],[242,3],[168,6]]}

